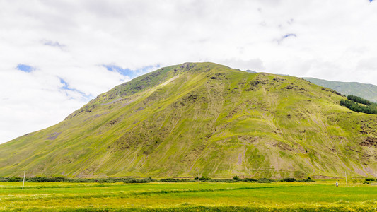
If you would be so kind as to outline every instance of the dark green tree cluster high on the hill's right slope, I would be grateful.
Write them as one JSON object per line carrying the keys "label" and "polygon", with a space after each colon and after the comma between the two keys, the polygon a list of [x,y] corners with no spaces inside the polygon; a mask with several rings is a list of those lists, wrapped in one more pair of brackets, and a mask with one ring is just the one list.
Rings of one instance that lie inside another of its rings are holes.
{"label": "dark green tree cluster high on the hill's right slope", "polygon": [[[364,112],[366,114],[377,114],[377,104],[364,100],[356,95],[348,95],[348,100],[340,100],[340,105],[353,110],[354,112]],[[364,104],[359,105],[358,103]],[[365,106],[366,105],[366,106]]]}

